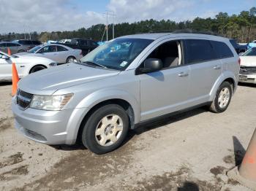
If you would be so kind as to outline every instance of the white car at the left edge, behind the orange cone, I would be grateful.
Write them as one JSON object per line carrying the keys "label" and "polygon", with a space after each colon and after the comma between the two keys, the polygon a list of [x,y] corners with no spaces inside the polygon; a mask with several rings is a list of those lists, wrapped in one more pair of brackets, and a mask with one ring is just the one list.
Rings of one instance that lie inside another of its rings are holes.
{"label": "white car at the left edge, behind the orange cone", "polygon": [[33,56],[7,55],[0,51],[0,82],[12,81],[12,63],[15,63],[20,78],[33,72],[57,66],[57,63],[48,58]]}

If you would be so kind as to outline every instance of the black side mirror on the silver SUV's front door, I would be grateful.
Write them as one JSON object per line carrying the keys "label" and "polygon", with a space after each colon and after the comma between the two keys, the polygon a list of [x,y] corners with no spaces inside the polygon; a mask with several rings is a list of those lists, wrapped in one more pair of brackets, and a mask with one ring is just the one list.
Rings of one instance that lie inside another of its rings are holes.
{"label": "black side mirror on the silver SUV's front door", "polygon": [[144,61],[144,67],[140,68],[140,73],[159,71],[163,67],[162,61],[157,58],[148,58]]}

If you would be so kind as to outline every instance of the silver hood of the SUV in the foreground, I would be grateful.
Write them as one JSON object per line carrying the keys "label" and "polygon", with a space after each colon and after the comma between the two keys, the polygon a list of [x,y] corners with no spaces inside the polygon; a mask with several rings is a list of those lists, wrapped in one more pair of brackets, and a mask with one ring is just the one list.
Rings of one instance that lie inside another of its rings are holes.
{"label": "silver hood of the SUV in the foreground", "polygon": [[32,94],[51,95],[66,87],[113,77],[119,73],[120,71],[68,63],[29,74],[29,76],[20,80],[18,87]]}

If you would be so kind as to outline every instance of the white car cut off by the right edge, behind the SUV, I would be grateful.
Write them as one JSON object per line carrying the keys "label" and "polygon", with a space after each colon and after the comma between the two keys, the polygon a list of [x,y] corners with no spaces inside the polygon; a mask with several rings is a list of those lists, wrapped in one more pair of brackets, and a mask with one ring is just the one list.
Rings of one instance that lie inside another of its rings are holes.
{"label": "white car cut off by the right edge, behind the SUV", "polygon": [[256,84],[256,47],[240,56],[239,82]]}

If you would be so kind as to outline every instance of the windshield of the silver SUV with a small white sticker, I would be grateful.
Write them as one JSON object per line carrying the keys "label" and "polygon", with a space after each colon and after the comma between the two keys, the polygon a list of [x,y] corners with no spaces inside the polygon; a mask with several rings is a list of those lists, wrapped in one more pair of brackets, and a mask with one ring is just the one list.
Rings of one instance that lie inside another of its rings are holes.
{"label": "windshield of the silver SUV with a small white sticker", "polygon": [[151,39],[114,39],[97,47],[80,61],[96,63],[108,69],[124,70],[151,42]]}

